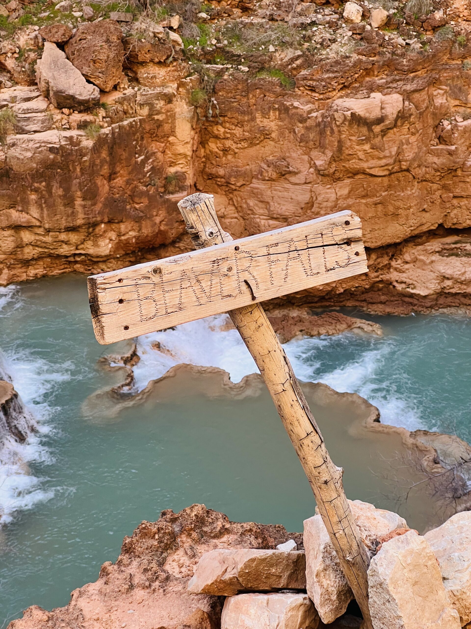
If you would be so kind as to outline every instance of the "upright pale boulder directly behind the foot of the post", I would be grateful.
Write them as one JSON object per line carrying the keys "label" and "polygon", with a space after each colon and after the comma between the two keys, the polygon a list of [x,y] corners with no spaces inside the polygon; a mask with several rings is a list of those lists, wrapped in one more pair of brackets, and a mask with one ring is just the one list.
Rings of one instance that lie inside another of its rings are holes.
{"label": "upright pale boulder directly behind the foot of the post", "polygon": [[[376,509],[361,500],[349,501],[360,536],[370,553],[376,550],[380,537],[396,528],[406,528],[406,521],[393,511]],[[324,623],[332,623],[347,610],[354,598],[337,554],[328,537],[322,517],[315,515],[304,521],[306,552],[306,586]]]}

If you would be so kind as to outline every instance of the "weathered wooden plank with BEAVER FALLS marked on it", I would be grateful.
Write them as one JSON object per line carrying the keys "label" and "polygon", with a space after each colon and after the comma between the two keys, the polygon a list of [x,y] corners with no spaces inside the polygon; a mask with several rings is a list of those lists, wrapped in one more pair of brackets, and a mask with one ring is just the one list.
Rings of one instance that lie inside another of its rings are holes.
{"label": "weathered wooden plank with BEAVER FALLS marked on it", "polygon": [[350,211],[89,277],[99,343],[113,343],[367,272]]}

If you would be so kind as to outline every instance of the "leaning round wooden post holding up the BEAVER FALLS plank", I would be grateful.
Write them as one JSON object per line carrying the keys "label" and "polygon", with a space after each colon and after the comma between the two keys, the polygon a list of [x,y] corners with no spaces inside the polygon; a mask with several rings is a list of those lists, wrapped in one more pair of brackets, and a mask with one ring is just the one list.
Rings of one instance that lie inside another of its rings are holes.
{"label": "leaning round wooden post holding up the BEAVER FALLS plank", "polygon": [[[197,192],[178,208],[197,249],[232,240],[219,225],[212,194]],[[251,286],[247,284],[247,290]],[[253,291],[252,291],[253,296]],[[253,297],[256,299],[256,296]],[[369,555],[360,539],[342,484],[344,470],[333,464],[318,425],[278,338],[260,304],[229,313],[252,354],[290,436],[314,493],[322,520],[345,577],[362,611],[364,629],[372,629],[368,606]]]}

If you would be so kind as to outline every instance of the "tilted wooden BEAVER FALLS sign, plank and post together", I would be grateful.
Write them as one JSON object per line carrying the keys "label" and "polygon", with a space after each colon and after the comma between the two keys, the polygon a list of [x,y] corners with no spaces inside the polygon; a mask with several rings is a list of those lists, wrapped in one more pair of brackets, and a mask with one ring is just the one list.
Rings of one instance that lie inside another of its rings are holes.
{"label": "tilted wooden BEAVER FALLS sign, plank and post together", "polygon": [[259,301],[318,286],[367,269],[361,223],[350,211],[232,240],[217,219],[212,194],[178,203],[195,252],[89,277],[99,343],[162,330],[229,311],[268,387],[300,458],[340,565],[372,629],[369,555],[342,484],[288,357]]}

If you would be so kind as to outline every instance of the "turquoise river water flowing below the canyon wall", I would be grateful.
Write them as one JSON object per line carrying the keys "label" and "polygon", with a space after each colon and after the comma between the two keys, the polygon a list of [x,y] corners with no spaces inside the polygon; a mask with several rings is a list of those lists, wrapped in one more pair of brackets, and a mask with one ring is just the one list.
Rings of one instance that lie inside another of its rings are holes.
{"label": "turquoise river water flowing below the canyon wall", "polygon": [[[31,484],[23,489],[21,508],[14,510],[18,496],[3,496],[11,521],[0,533],[0,628],[30,604],[67,604],[72,589],[95,580],[102,562],[116,559],[124,535],[162,509],[200,502],[233,520],[302,530],[313,513],[310,489],[266,396],[176,397],[117,418],[87,420],[82,403],[111,382],[97,359],[113,348],[94,340],[85,278],[6,289],[0,306],[6,365],[42,426],[25,454]],[[288,343],[298,376],[359,392],[379,406],[383,421],[455,431],[471,440],[470,322],[448,316],[372,319],[381,323],[384,337],[347,334]],[[217,366],[224,360],[234,381],[253,371],[233,332],[198,325],[204,347],[193,357],[185,330],[160,334],[174,347],[180,343],[192,359],[187,362]],[[143,356],[136,368],[141,388],[161,375],[160,368]],[[328,417],[319,421],[327,440]],[[330,442],[333,459],[336,453],[345,457],[332,437]],[[376,481],[368,486],[367,476],[361,480],[352,469],[355,482],[349,484],[348,465],[345,470],[349,496],[373,499]]]}

